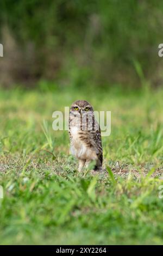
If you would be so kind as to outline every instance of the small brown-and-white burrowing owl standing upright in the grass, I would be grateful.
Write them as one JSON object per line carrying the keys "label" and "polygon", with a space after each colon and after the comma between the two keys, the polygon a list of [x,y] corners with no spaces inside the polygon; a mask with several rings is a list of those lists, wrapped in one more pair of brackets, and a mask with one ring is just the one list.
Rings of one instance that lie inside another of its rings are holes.
{"label": "small brown-and-white burrowing owl standing upright in the grass", "polygon": [[79,159],[79,172],[96,161],[94,170],[102,170],[103,149],[101,130],[95,120],[89,102],[78,100],[72,103],[69,117],[71,152]]}

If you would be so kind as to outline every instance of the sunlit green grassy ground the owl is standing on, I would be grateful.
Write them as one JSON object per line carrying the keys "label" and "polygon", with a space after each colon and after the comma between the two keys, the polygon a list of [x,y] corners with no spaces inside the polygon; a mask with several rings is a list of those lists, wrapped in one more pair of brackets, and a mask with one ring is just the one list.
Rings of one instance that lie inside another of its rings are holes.
{"label": "sunlit green grassy ground the owl is standing on", "polygon": [[[0,90],[0,243],[163,243],[162,98],[163,90]],[[68,132],[52,130],[53,111],[77,99],[111,111],[110,174],[79,175]]]}

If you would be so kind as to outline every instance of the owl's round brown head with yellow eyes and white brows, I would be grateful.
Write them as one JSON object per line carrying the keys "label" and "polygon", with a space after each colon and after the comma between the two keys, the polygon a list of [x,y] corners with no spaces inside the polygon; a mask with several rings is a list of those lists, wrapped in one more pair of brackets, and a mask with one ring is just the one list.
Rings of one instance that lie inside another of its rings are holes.
{"label": "owl's round brown head with yellow eyes and white brows", "polygon": [[93,108],[86,100],[77,100],[72,103],[70,113],[74,115],[93,114]]}

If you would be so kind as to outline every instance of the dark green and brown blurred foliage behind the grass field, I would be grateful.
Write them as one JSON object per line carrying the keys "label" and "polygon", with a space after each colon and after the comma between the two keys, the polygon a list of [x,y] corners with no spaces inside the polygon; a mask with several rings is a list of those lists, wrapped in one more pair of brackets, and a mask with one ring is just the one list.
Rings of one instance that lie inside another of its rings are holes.
{"label": "dark green and brown blurred foliage behind the grass field", "polygon": [[1,1],[0,84],[162,86],[162,17],[159,0]]}

